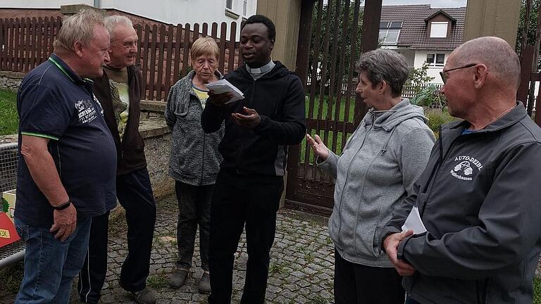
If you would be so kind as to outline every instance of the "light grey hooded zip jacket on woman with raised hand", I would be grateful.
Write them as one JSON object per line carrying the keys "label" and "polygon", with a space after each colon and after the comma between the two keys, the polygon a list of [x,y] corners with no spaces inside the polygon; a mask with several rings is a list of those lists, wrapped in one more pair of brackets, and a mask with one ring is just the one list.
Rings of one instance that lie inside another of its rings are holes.
{"label": "light grey hooded zip jacket on woman with raised hand", "polygon": [[426,121],[423,108],[408,99],[387,111],[369,110],[342,155],[329,151],[319,164],[336,179],[329,233],[345,260],[392,267],[380,253],[379,234],[428,161],[435,138]]}

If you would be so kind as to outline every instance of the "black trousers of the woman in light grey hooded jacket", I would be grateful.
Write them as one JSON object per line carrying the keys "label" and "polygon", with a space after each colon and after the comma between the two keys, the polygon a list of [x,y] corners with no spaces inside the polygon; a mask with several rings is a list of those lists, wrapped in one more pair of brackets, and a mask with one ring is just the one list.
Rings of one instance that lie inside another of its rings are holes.
{"label": "black trousers of the woman in light grey hooded jacket", "polygon": [[335,304],[404,304],[405,296],[394,268],[355,264],[335,250]]}

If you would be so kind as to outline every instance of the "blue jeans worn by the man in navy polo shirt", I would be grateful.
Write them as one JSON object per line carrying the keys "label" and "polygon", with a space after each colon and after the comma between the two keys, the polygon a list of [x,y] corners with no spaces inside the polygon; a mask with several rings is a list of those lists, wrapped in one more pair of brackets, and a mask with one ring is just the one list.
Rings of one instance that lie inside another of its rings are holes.
{"label": "blue jeans worn by the man in navy polo shirt", "polygon": [[68,303],[73,277],[79,273],[88,249],[88,217],[77,219],[77,228],[59,241],[49,227],[35,227],[15,217],[15,228],[25,241],[25,270],[15,304]]}

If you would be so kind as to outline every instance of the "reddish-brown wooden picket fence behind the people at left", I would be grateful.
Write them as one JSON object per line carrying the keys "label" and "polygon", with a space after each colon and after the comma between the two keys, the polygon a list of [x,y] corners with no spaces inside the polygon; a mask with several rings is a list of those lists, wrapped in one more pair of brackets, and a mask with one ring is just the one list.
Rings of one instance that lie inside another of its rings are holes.
{"label": "reddish-brown wooden picket fence behind the people at left", "polygon": [[[62,26],[61,18],[0,19],[0,70],[28,72],[46,61]],[[211,36],[220,47],[220,72],[242,65],[235,42],[237,23],[202,25],[134,25],[139,35],[136,63],[146,82],[145,99],[162,101],[175,82],[189,72],[189,49],[199,37]],[[226,39],[230,27],[229,40]],[[218,38],[218,30],[219,37]]]}

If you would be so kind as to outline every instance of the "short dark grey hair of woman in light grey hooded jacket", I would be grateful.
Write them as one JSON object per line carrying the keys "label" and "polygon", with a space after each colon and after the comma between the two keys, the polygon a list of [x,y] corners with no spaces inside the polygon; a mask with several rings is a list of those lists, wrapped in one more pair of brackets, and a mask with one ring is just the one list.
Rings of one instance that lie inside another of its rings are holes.
{"label": "short dark grey hair of woman in light grey hooded jacket", "polygon": [[402,94],[404,83],[408,79],[408,63],[402,54],[388,49],[375,49],[363,53],[355,66],[356,72],[366,72],[372,85],[385,80],[391,87],[393,97]]}

